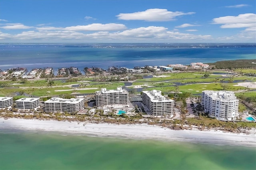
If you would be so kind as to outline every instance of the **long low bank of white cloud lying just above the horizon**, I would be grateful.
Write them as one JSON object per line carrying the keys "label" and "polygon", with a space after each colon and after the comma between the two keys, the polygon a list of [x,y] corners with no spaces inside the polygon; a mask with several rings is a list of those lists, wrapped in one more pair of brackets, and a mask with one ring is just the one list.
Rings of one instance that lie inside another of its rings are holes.
{"label": "long low bank of white cloud lying just above the horizon", "polygon": [[76,31],[67,30],[39,30],[39,31],[24,31],[20,34],[3,34],[0,32],[0,37],[5,40],[17,42],[162,42],[162,41],[187,41],[187,40],[210,40],[211,36],[184,34],[178,31],[168,31],[168,28],[149,26],[140,27],[122,32],[100,31],[91,34],[84,34]]}

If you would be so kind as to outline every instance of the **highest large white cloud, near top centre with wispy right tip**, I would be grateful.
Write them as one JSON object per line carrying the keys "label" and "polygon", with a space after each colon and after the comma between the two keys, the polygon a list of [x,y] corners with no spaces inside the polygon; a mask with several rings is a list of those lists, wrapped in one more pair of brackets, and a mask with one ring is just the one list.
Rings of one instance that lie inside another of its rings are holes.
{"label": "highest large white cloud, near top centre with wispy right tip", "polygon": [[134,12],[134,13],[120,13],[117,15],[119,20],[145,20],[145,21],[170,21],[174,20],[176,16],[191,15],[195,12],[171,12],[166,9],[148,9],[146,11]]}

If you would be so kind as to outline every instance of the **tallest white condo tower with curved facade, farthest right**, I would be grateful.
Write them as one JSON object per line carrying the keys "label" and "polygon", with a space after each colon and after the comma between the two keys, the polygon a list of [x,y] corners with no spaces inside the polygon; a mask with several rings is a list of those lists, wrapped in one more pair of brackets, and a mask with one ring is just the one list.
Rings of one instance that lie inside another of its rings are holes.
{"label": "tallest white condo tower with curved facade, farthest right", "polygon": [[232,91],[202,91],[204,112],[220,121],[232,121],[238,117],[239,100]]}

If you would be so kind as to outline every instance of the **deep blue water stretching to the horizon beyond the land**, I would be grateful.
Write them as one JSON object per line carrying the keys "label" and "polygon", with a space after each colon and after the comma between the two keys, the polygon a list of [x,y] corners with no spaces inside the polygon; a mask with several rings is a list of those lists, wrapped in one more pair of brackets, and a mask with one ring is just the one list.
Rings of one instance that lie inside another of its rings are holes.
{"label": "deep blue water stretching to the horizon beyond the land", "polygon": [[86,43],[0,44],[0,69],[12,67],[133,68],[145,65],[212,63],[255,59],[256,44]]}

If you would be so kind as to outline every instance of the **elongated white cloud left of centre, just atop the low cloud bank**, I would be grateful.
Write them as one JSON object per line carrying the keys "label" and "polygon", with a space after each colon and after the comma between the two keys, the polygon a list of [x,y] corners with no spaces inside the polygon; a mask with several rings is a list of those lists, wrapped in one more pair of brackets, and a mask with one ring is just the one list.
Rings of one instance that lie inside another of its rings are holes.
{"label": "elongated white cloud left of centre, just atop the low cloud bank", "polygon": [[86,26],[71,26],[66,27],[64,30],[68,31],[117,31],[124,30],[126,26],[124,24],[89,24]]}

